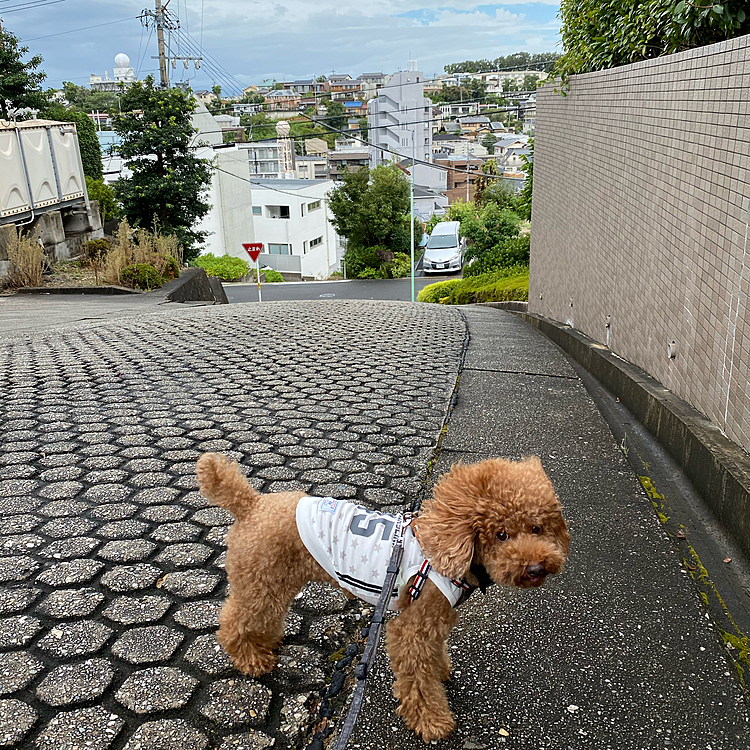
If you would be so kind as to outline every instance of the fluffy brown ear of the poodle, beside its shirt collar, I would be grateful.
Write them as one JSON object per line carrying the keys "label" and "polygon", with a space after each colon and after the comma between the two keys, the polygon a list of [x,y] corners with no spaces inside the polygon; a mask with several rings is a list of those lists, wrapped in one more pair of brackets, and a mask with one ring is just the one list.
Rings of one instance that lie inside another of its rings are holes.
{"label": "fluffy brown ear of the poodle, beside its shirt collar", "polygon": [[461,475],[468,467],[452,467],[435,487],[417,520],[417,536],[432,567],[448,578],[463,578],[474,558],[476,507]]}

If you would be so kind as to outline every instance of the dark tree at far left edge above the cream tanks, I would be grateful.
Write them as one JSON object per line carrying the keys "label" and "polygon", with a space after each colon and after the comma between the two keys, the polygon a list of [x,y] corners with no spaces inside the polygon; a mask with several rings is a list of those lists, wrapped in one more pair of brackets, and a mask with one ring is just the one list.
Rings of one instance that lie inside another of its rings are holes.
{"label": "dark tree at far left edge above the cream tanks", "polygon": [[16,109],[42,109],[47,104],[41,87],[47,74],[36,70],[43,58],[34,55],[24,62],[28,51],[15,34],[0,27],[0,119],[9,120]]}

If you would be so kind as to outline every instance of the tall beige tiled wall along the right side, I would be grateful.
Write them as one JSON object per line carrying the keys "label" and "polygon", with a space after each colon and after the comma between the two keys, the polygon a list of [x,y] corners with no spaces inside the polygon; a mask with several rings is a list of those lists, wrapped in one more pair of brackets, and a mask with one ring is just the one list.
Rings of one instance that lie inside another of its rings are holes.
{"label": "tall beige tiled wall along the right side", "polygon": [[748,167],[750,36],[540,90],[529,310],[608,343],[745,450]]}

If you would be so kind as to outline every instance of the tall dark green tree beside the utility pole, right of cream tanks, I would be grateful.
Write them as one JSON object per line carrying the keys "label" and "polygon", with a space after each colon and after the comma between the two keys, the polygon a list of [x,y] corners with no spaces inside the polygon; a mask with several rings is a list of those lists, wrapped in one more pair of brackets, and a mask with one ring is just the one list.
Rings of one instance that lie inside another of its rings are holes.
{"label": "tall dark green tree beside the utility pole, right of cream tanks", "polygon": [[148,76],[127,89],[122,108],[114,128],[122,137],[120,154],[133,172],[116,186],[125,215],[134,226],[156,223],[160,231],[175,234],[191,260],[206,234],[194,225],[210,209],[204,196],[211,180],[210,163],[190,148],[193,99],[177,89],[156,88]]}

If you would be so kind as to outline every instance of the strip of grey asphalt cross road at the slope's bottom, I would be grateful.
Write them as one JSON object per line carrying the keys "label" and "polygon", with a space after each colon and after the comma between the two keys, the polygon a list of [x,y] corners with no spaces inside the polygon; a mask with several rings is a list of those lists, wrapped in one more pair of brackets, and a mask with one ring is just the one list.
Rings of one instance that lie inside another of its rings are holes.
{"label": "strip of grey asphalt cross road at the slope's bottom", "polygon": [[[414,280],[414,294],[428,284],[450,276],[421,276]],[[224,291],[230,304],[234,302],[257,302],[256,284],[232,284],[224,282]],[[347,281],[294,281],[283,284],[263,284],[264,302],[289,302],[307,299],[380,299],[394,302],[411,301],[411,279],[349,279]]]}

